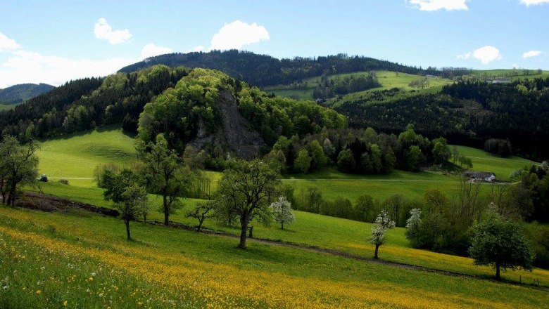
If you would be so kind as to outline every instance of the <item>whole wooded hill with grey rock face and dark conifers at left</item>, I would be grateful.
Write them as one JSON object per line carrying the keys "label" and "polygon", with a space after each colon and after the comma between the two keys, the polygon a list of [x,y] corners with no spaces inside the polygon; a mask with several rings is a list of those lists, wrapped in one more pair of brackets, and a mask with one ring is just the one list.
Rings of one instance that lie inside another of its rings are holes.
{"label": "whole wooded hill with grey rock face and dark conifers at left", "polygon": [[280,136],[341,129],[347,122],[312,100],[270,96],[215,70],[165,65],[70,81],[0,112],[2,134],[23,141],[107,124],[122,124],[132,133],[139,127],[143,140],[164,133],[179,152],[191,144],[216,159],[227,152],[255,157]]}

